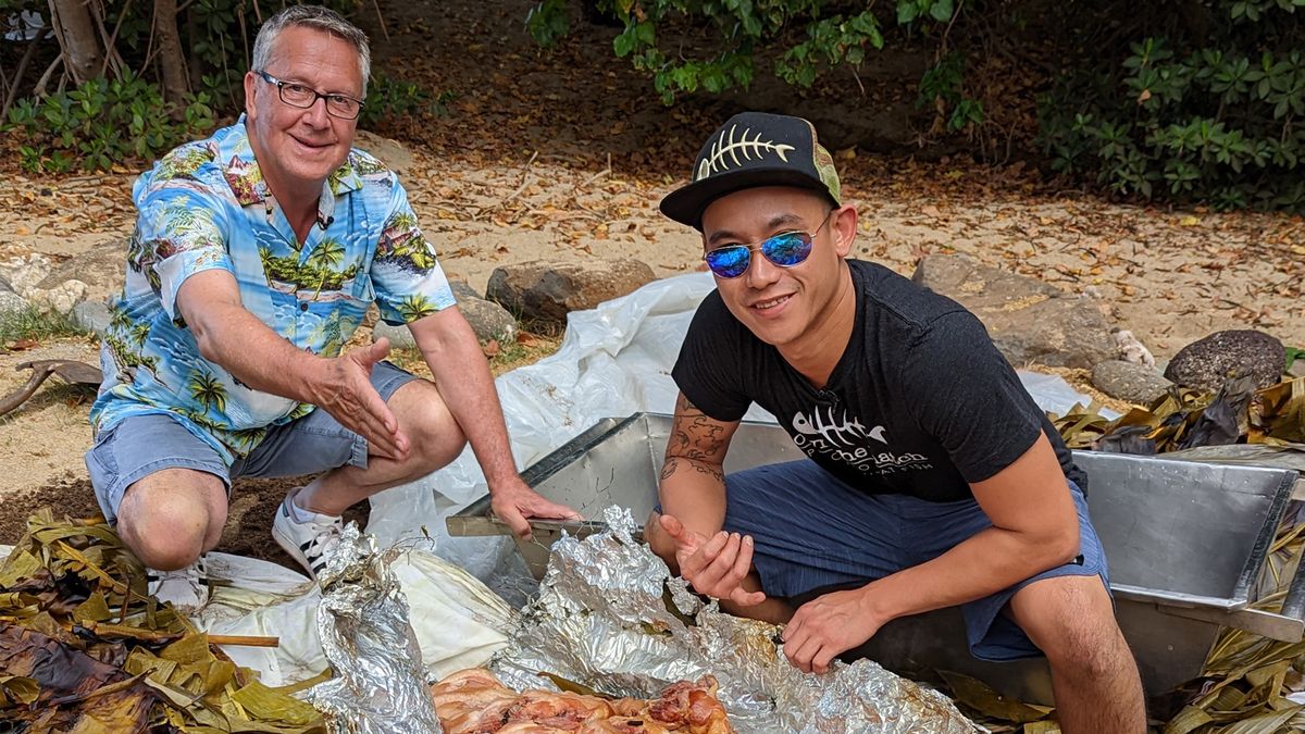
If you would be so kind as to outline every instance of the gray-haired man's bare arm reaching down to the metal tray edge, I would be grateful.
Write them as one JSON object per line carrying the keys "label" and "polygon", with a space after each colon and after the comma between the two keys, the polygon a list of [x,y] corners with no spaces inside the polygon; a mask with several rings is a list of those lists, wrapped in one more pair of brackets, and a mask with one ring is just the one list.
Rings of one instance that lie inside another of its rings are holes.
{"label": "gray-haired man's bare arm reaching down to the metal tray edge", "polygon": [[495,513],[522,538],[531,534],[526,517],[579,520],[579,513],[544,499],[517,473],[489,363],[462,312],[445,308],[408,329],[484,471]]}

